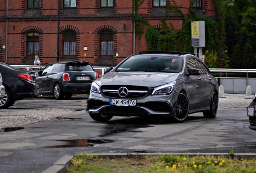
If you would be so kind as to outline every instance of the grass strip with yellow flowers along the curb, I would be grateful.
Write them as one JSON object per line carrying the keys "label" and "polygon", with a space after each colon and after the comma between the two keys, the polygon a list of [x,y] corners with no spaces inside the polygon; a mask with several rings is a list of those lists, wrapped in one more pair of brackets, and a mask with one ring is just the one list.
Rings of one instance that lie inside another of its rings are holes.
{"label": "grass strip with yellow flowers along the curb", "polygon": [[211,155],[74,155],[67,173],[256,173],[256,159]]}

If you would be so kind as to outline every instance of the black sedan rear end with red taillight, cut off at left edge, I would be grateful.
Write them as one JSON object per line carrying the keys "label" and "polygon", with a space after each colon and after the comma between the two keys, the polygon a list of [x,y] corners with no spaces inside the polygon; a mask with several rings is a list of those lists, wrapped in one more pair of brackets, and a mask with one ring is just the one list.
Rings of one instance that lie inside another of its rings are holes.
{"label": "black sedan rear end with red taillight, cut off at left edge", "polygon": [[12,106],[15,101],[31,99],[37,95],[34,71],[20,70],[0,62],[0,72],[5,87],[4,98],[0,100],[0,109]]}

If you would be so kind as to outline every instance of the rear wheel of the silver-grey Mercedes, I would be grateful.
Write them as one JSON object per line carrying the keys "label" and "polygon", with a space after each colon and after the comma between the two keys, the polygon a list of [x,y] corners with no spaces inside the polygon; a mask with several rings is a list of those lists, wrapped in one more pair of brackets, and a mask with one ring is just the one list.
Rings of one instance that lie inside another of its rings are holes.
{"label": "rear wheel of the silver-grey Mercedes", "polygon": [[218,94],[216,91],[213,91],[211,102],[210,102],[210,110],[204,111],[203,115],[205,118],[215,118],[218,111]]}

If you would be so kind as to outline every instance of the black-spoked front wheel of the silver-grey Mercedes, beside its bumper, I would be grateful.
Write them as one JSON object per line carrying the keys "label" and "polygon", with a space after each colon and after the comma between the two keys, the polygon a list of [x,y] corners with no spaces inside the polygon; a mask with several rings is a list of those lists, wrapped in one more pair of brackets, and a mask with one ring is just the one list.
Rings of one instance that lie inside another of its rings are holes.
{"label": "black-spoked front wheel of the silver-grey Mercedes, beside its bumper", "polygon": [[188,97],[182,92],[178,96],[176,112],[173,120],[175,123],[182,123],[188,118],[189,102]]}

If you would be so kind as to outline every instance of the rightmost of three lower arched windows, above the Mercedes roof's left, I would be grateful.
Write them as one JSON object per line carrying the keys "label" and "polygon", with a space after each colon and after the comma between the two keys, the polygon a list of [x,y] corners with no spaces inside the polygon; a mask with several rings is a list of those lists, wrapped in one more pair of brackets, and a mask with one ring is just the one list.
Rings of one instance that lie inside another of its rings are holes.
{"label": "rightmost of three lower arched windows, above the Mercedes roof's left", "polygon": [[113,56],[114,54],[114,34],[111,31],[105,30],[100,33],[101,55]]}

